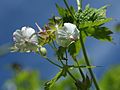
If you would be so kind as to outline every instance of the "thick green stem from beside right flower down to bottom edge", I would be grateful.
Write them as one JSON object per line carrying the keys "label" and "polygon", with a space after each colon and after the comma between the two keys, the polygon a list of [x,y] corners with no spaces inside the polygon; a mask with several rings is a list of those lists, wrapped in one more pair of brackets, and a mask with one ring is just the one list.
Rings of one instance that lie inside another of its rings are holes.
{"label": "thick green stem from beside right flower down to bottom edge", "polygon": [[[87,53],[86,53],[85,46],[84,46],[83,37],[82,37],[82,31],[80,32],[80,42],[81,42],[81,46],[82,46],[82,51],[83,51],[83,54],[84,54],[85,62],[87,64],[87,66],[91,66],[90,62],[89,62],[89,59],[88,59],[88,56],[87,56]],[[90,75],[91,75],[91,77],[93,79],[93,82],[94,82],[96,90],[100,90],[92,69],[88,68],[88,71],[89,71],[89,73],[90,73]]]}

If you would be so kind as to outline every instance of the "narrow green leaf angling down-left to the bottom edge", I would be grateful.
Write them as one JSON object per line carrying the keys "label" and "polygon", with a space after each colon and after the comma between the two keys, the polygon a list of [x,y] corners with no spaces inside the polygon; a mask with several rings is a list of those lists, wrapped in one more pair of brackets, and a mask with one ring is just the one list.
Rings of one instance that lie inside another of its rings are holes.
{"label": "narrow green leaf angling down-left to the bottom edge", "polygon": [[45,90],[49,90],[55,84],[55,82],[62,76],[62,73],[63,73],[63,70],[58,72],[52,80],[45,83]]}

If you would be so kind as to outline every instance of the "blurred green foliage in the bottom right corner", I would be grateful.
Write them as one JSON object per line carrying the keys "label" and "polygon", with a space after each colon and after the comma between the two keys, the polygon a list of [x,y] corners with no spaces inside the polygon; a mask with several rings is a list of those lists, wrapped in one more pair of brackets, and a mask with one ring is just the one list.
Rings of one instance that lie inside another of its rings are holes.
{"label": "blurred green foliage in the bottom right corner", "polygon": [[110,68],[100,81],[101,90],[120,89],[120,65]]}

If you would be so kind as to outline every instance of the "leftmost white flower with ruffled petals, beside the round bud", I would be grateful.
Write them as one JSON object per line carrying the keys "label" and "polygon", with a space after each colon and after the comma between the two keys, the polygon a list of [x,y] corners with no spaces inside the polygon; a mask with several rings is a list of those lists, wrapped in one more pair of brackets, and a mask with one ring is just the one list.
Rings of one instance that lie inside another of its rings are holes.
{"label": "leftmost white flower with ruffled petals, beside the round bud", "polygon": [[30,52],[37,49],[38,38],[31,27],[22,27],[13,33],[14,51]]}

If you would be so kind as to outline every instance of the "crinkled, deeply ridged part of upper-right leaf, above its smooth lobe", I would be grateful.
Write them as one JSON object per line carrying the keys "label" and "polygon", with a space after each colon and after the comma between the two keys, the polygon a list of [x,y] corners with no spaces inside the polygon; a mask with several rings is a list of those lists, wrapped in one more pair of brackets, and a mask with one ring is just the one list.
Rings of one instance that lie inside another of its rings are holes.
{"label": "crinkled, deeply ridged part of upper-right leaf, above its smooth lobe", "polygon": [[99,9],[91,8],[88,4],[83,11],[80,10],[76,13],[77,20],[82,23],[106,19],[106,8],[107,6],[103,6]]}

